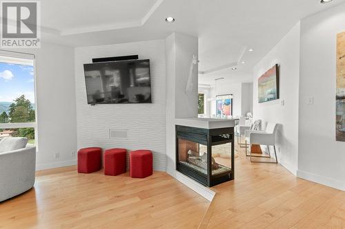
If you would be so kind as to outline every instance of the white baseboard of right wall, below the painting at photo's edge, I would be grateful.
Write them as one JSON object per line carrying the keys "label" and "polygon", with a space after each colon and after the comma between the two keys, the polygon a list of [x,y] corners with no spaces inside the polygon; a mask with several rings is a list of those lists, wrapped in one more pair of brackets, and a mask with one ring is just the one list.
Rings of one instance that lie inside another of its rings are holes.
{"label": "white baseboard of right wall, below the painting at photo's edge", "polygon": [[331,179],[329,177],[324,177],[317,175],[315,173],[309,173],[306,171],[297,171],[297,177],[302,179],[308,179],[311,182],[323,184],[325,186],[329,186],[331,188],[337,188],[339,190],[345,191],[345,182],[339,181],[337,179]]}

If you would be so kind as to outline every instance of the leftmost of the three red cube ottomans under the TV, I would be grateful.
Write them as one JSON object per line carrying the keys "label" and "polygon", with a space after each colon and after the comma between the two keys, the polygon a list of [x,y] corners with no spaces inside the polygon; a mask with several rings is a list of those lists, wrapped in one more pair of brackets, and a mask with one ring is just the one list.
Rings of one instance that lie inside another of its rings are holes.
{"label": "leftmost of the three red cube ottomans under the TV", "polygon": [[78,173],[93,173],[101,170],[102,149],[90,147],[78,151]]}

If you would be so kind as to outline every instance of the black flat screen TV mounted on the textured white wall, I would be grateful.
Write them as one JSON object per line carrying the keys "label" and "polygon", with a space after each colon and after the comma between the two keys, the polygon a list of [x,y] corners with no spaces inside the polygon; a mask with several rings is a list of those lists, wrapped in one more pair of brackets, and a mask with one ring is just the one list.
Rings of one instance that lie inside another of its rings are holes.
{"label": "black flat screen TV mounted on the textured white wall", "polygon": [[88,104],[151,103],[150,60],[84,64]]}

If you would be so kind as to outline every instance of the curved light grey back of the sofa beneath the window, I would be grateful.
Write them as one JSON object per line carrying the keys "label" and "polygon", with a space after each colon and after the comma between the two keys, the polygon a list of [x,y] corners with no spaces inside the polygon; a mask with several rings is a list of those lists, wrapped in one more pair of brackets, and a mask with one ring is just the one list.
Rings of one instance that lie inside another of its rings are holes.
{"label": "curved light grey back of the sofa beneath the window", "polygon": [[0,201],[32,188],[35,171],[35,146],[0,153]]}

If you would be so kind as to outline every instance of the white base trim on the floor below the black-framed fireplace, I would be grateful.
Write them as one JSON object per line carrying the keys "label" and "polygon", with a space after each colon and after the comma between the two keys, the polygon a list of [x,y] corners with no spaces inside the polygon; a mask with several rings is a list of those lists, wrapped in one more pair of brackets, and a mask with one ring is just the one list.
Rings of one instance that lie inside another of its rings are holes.
{"label": "white base trim on the floor below the black-framed fireplace", "polygon": [[195,182],[194,179],[190,179],[186,175],[179,173],[176,171],[175,179],[177,179],[182,184],[186,185],[188,188],[195,191],[195,193],[198,193],[201,195],[201,197],[204,197],[208,201],[212,201],[213,197],[215,197],[215,192],[213,190],[210,190],[210,188],[207,188],[198,182]]}

